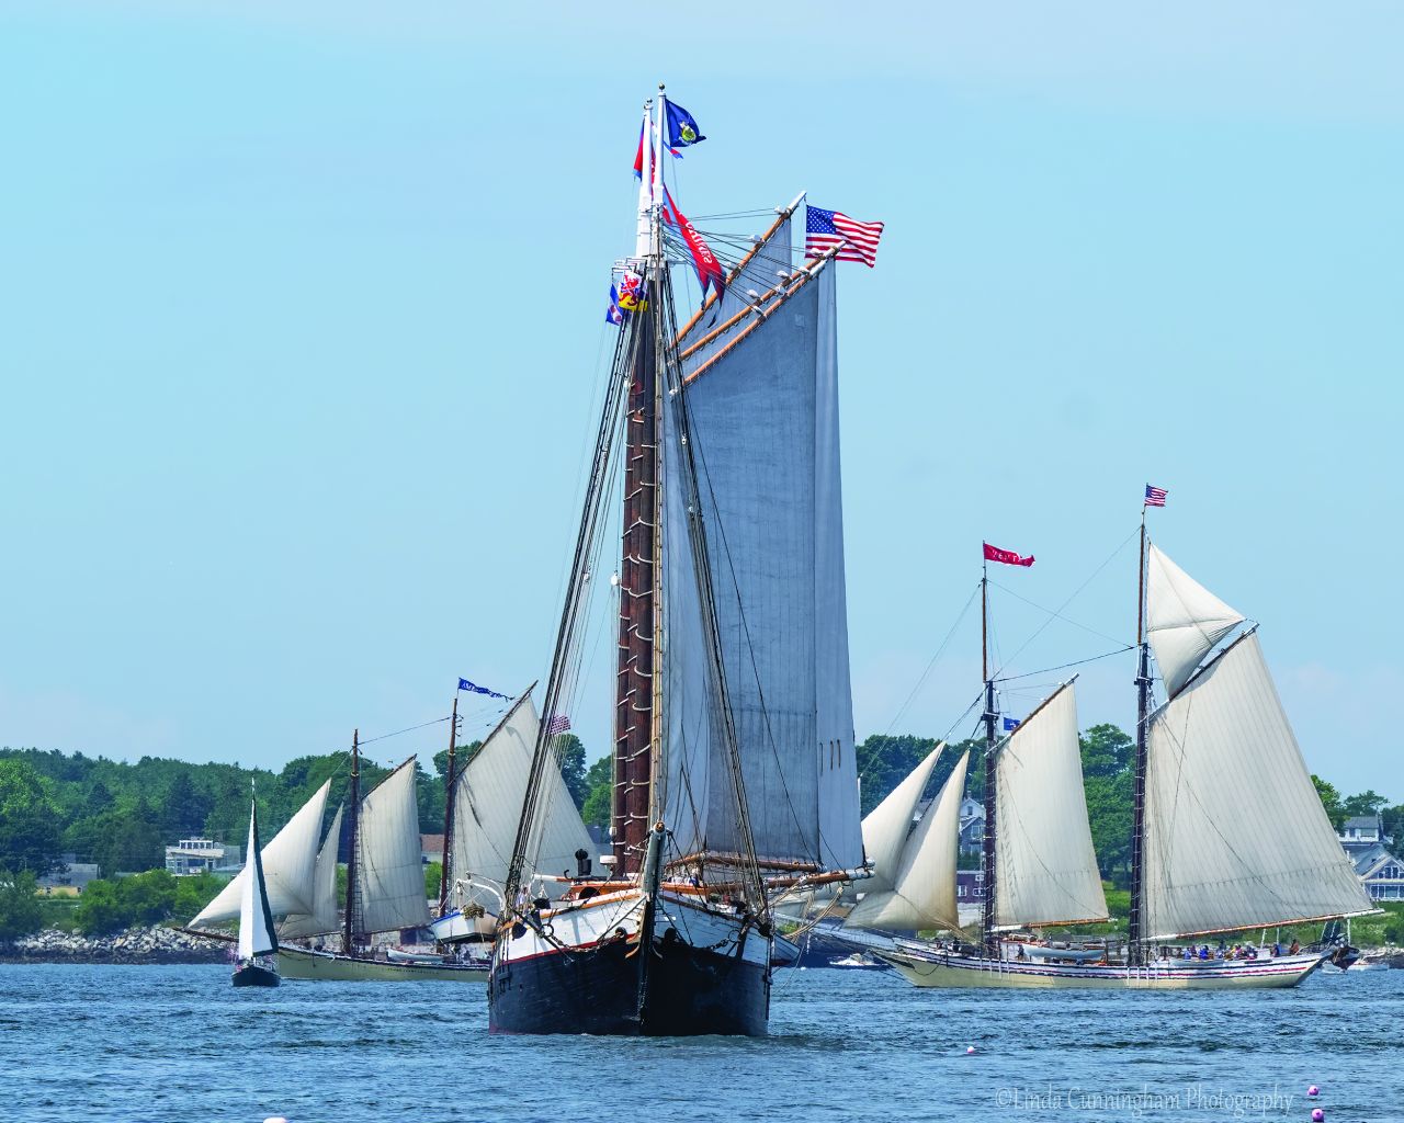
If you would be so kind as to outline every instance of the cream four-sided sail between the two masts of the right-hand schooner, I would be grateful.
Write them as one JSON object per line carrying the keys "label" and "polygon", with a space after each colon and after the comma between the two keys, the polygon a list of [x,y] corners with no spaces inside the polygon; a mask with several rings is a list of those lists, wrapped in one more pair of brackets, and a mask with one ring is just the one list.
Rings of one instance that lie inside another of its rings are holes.
{"label": "cream four-sided sail between the two masts of the right-hand schooner", "polygon": [[994,775],[995,925],[1105,921],[1071,682],[1009,734]]}

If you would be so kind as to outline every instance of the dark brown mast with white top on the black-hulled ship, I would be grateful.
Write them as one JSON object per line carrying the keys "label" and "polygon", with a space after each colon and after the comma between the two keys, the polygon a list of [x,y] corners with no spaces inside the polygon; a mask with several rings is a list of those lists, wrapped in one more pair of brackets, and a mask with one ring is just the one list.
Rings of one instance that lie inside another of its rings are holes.
{"label": "dark brown mast with white top on the black-hulled ship", "polygon": [[[649,105],[644,112],[649,112]],[[633,314],[633,372],[625,421],[623,549],[619,564],[619,642],[615,678],[615,872],[637,873],[650,827],[650,788],[654,726],[654,590],[657,588],[658,352],[656,320],[661,292],[661,233],[658,211],[663,166],[658,136],[663,128],[663,91],[658,91],[657,124],[644,118],[649,163],[647,185],[639,187],[639,237],[636,254],[647,278],[647,307]]]}

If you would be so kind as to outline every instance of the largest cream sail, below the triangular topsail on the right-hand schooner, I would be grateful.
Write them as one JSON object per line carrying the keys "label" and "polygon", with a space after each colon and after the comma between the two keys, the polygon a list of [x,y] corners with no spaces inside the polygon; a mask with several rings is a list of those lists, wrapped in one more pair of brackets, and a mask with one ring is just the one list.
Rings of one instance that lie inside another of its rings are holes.
{"label": "largest cream sail, below the triangular topsail on the right-hand schooner", "polygon": [[1147,726],[1146,939],[1372,911],[1255,633]]}

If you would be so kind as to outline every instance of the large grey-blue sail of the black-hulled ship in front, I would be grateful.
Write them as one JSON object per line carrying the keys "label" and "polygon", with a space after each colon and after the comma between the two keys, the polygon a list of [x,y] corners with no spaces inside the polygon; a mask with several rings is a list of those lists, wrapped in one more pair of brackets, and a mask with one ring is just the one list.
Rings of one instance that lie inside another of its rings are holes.
{"label": "large grey-blue sail of the black-hulled ship in front", "polygon": [[[862,839],[827,265],[814,263],[789,278],[764,316],[687,359],[681,399],[755,853],[847,869],[861,863]],[[695,571],[681,559],[685,451],[677,441],[665,445],[665,790],[674,821],[687,831],[673,830],[692,837],[691,849],[741,853],[724,738],[709,717],[701,674],[706,646],[687,587]]]}

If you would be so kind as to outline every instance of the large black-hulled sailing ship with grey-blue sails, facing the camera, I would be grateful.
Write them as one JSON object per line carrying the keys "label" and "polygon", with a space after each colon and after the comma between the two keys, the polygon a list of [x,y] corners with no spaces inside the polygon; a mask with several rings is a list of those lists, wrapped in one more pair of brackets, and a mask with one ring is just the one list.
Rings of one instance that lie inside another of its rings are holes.
{"label": "large black-hulled sailing ship with grey-blue sails, facing the camera", "polygon": [[[671,108],[661,87],[644,107],[637,237],[619,264],[635,299],[507,868],[494,1032],[762,1035],[775,898],[866,873],[844,602],[837,248],[793,264],[796,199],[723,285],[703,286],[678,328],[673,230],[694,247],[696,234],[664,190]],[[541,855],[555,716],[580,679],[619,477],[612,853],[607,876],[552,896],[559,884]]]}

